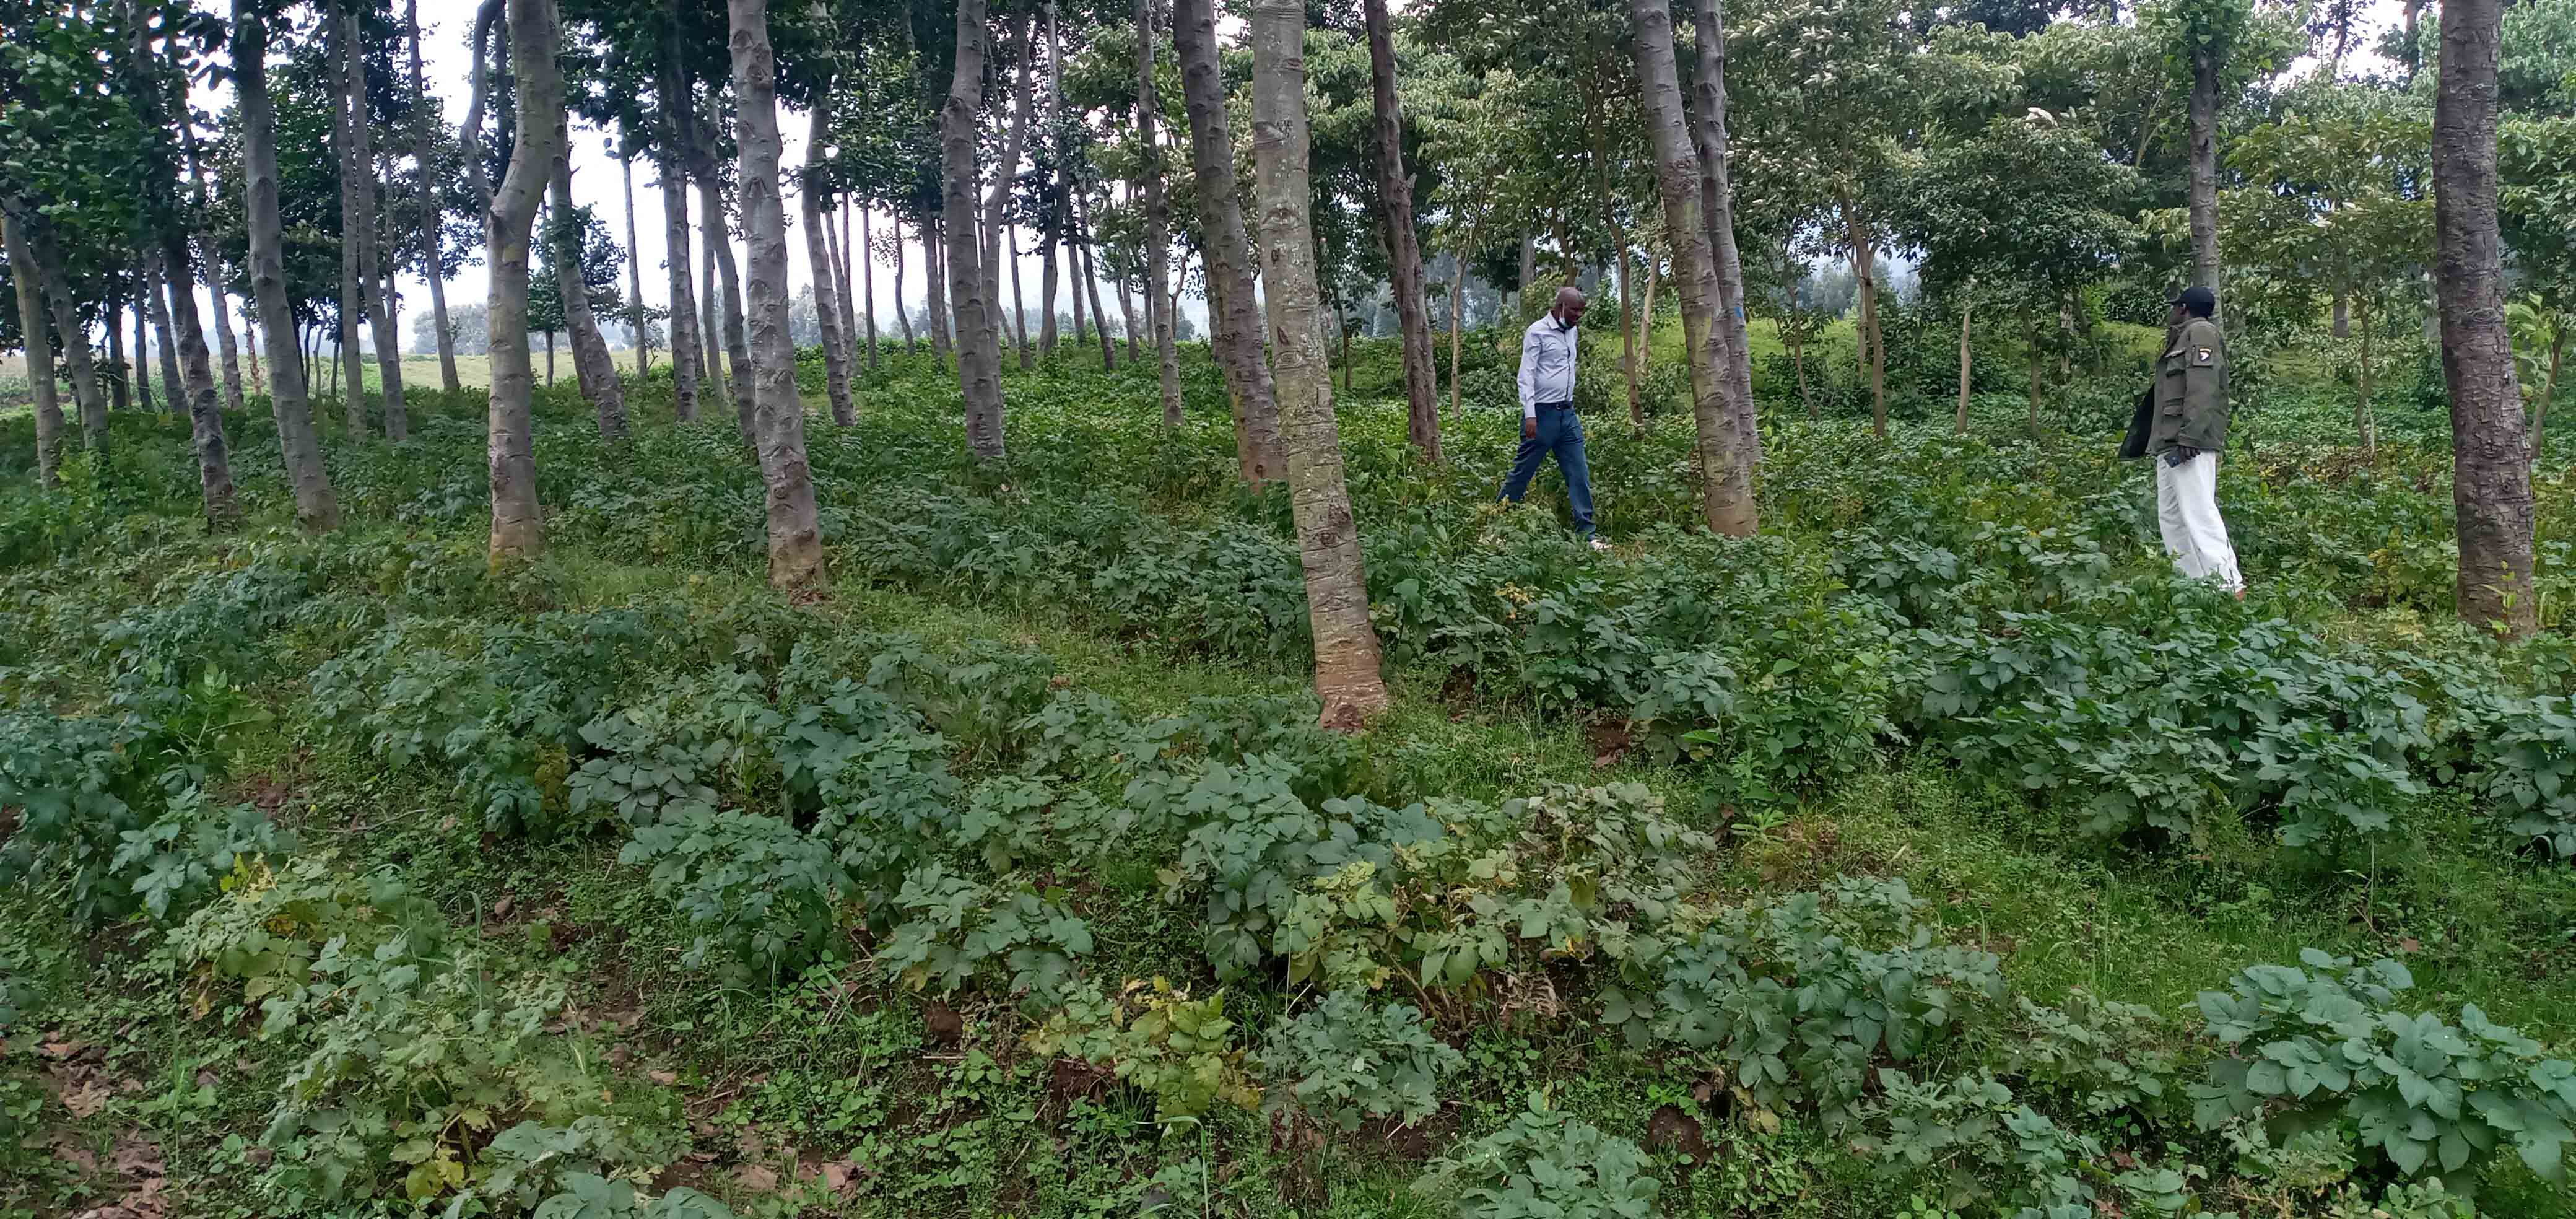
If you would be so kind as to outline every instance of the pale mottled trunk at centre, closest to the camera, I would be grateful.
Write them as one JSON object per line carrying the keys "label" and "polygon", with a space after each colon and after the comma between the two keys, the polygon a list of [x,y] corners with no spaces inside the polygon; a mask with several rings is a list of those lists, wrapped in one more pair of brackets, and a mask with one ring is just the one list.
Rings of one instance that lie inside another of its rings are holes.
{"label": "pale mottled trunk at centre, closest to the camera", "polygon": [[1314,631],[1314,691],[1324,727],[1358,732],[1386,709],[1378,629],[1368,621],[1360,526],[1342,482],[1342,436],[1332,418],[1332,369],[1319,327],[1314,222],[1306,173],[1306,5],[1262,0],[1252,10],[1252,165],[1262,209],[1262,268],[1278,348],[1280,433],[1306,621]]}

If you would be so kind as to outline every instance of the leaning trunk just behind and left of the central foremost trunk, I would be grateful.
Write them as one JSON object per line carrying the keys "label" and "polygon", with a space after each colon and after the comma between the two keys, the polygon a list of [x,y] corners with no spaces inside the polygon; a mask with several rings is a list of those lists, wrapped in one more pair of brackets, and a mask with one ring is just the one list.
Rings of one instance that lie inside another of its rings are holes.
{"label": "leaning trunk just behind and left of the central foremost trunk", "polygon": [[1234,464],[1244,482],[1260,487],[1280,474],[1280,407],[1262,356],[1260,304],[1252,299],[1252,250],[1234,186],[1234,134],[1226,129],[1226,77],[1216,62],[1211,0],[1172,0],[1172,54],[1180,57],[1180,95],[1190,111],[1211,350],[1234,407]]}

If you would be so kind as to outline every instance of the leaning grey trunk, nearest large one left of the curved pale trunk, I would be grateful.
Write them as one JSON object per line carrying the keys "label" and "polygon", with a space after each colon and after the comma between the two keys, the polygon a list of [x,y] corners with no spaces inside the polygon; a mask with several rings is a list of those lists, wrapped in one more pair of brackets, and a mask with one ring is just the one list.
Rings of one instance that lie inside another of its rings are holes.
{"label": "leaning grey trunk, nearest large one left of the curved pale trunk", "polygon": [[278,420],[296,521],[314,533],[340,528],[340,500],[322,472],[304,366],[296,361],[296,314],[286,299],[286,227],[278,219],[278,113],[268,101],[268,18],[263,0],[232,0],[232,93],[242,106],[242,196],[250,227],[250,296],[268,340],[268,402]]}

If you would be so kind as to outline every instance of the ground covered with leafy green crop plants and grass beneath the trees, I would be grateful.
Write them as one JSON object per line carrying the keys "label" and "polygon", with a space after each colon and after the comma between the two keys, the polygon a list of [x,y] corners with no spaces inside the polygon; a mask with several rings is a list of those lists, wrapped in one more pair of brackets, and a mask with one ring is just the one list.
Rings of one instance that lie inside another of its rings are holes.
{"label": "ground covered with leafy green crop plants and grass beneath the trees", "polygon": [[[2241,407],[2246,606],[2154,552],[2125,369],[1965,441],[1767,376],[1754,541],[1687,531],[1687,415],[1592,420],[1592,557],[1553,472],[1486,503],[1502,356],[1432,469],[1386,348],[1355,740],[1195,350],[1177,436],[1149,369],[1012,371],[999,472],[871,371],[799,595],[667,381],[605,446],[564,369],[505,570],[471,392],[319,410],[327,539],[265,410],[229,536],[118,418],[0,495],[0,1216],[2576,1214],[2460,1106],[2545,1131],[2576,1039],[2563,464],[2535,644],[2450,624],[2445,420],[2365,466],[2331,381]],[[2427,1093],[2249,1080],[2326,992]]]}

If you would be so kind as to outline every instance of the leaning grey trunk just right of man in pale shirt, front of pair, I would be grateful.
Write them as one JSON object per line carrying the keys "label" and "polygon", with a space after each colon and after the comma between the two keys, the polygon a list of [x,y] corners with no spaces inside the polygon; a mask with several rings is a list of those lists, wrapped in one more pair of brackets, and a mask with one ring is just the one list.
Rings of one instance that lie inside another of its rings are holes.
{"label": "leaning grey trunk just right of man in pale shirt, front of pair", "polygon": [[[1664,196],[1664,232],[1672,237],[1672,278],[1682,294],[1682,345],[1690,353],[1690,412],[1708,528],[1747,539],[1762,528],[1747,459],[1744,415],[1726,402],[1726,340],[1718,338],[1718,276],[1708,258],[1700,209],[1700,157],[1682,113],[1680,67],[1672,52],[1667,0],[1633,0],[1636,77],[1654,139],[1654,180]],[[1651,320],[1654,314],[1649,314]]]}

